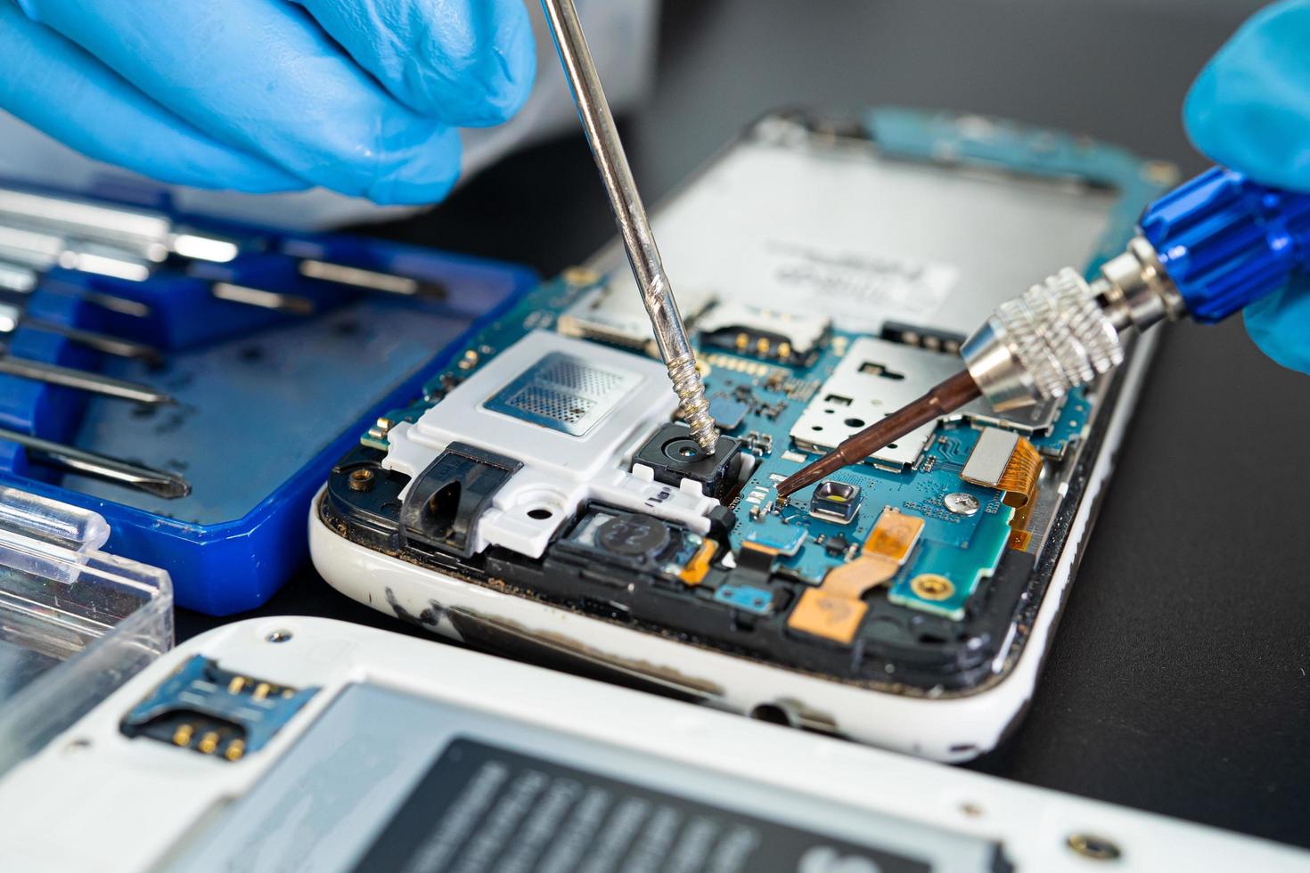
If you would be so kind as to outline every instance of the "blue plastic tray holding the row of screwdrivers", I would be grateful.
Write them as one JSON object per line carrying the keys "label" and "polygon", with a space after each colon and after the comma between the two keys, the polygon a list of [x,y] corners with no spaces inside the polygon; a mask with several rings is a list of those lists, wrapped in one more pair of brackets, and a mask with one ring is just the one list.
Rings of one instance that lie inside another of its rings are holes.
{"label": "blue plastic tray holding the row of screwdrivers", "polygon": [[[166,200],[131,204],[172,215]],[[0,483],[98,512],[114,529],[107,551],[168,569],[178,605],[221,615],[257,606],[301,565],[309,501],[333,462],[537,276],[364,237],[176,217],[237,240],[242,254],[225,264],[169,262],[144,281],[52,270],[25,294],[29,317],[148,343],[165,352],[161,364],[110,357],[22,323],[9,351],[145,382],[177,404],[144,407],[0,376],[0,427],[174,470],[191,493],[168,500],[66,474],[29,463],[8,441],[0,441]],[[307,258],[410,276],[444,294],[307,279],[297,268]],[[214,280],[308,297],[316,312],[217,300]],[[107,310],[88,292],[145,304],[148,314]]]}

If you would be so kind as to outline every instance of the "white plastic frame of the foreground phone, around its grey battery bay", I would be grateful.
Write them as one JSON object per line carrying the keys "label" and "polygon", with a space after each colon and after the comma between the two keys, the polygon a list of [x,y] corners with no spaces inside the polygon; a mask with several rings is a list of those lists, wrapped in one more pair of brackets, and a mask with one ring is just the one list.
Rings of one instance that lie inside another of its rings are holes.
{"label": "white plastic frame of the foreground phone, around its grey battery bay", "polygon": [[[290,639],[271,643],[274,631]],[[240,762],[124,737],[123,713],[202,653],[227,669],[321,691]],[[765,791],[997,840],[1020,872],[1310,869],[1310,853],[1292,847],[313,618],[250,619],[187,641],[0,780],[0,869],[157,869],[193,828],[250,791],[354,682],[755,780]],[[1112,840],[1121,857],[1106,865],[1074,853],[1076,834]]]}

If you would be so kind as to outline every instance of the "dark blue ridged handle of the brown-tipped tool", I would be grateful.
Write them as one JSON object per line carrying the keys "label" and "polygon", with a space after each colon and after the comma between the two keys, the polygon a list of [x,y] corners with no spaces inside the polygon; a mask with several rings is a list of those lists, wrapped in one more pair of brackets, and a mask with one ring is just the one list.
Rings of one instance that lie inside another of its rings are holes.
{"label": "dark blue ridged handle of the brown-tipped tool", "polygon": [[1310,268],[1310,194],[1224,168],[1162,196],[1140,226],[1200,322],[1227,318]]}

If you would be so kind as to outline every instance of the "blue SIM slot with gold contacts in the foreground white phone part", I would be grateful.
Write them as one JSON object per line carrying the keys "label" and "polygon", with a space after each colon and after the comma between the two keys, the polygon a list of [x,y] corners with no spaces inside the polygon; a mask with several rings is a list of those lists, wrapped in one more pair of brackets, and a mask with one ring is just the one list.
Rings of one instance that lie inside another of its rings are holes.
{"label": "blue SIM slot with gold contacts in the foreground white phone part", "polygon": [[318,688],[291,688],[196,654],[132,707],[121,730],[240,760],[263,749]]}

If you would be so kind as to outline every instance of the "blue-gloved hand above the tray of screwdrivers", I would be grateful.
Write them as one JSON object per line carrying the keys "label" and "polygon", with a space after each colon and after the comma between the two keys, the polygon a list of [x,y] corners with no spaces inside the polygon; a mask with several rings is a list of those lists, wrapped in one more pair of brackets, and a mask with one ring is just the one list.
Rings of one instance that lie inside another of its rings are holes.
{"label": "blue-gloved hand above the tray of screwdrivers", "polygon": [[0,109],[90,157],[241,191],[431,203],[457,127],[536,69],[521,0],[0,0]]}

